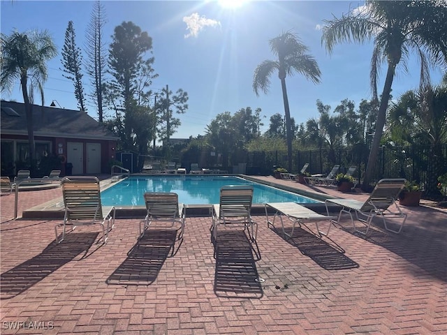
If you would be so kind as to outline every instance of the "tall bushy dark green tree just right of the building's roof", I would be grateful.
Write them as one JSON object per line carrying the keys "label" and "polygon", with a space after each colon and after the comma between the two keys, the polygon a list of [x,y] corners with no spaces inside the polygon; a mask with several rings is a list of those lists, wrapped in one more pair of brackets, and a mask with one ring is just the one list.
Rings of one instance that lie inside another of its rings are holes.
{"label": "tall bushy dark green tree just right of the building's roof", "polygon": [[154,138],[154,108],[149,107],[149,86],[154,75],[154,58],[145,59],[152,50],[152,38],[133,22],[115,27],[109,50],[109,65],[114,78],[106,96],[115,117],[108,123],[120,138],[119,149],[145,155]]}

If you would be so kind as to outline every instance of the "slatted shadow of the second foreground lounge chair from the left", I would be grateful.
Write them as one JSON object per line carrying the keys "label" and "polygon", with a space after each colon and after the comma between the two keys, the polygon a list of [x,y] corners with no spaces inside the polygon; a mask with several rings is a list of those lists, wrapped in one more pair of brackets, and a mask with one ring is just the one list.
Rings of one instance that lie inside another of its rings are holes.
{"label": "slatted shadow of the second foreground lounge chair from the left", "polygon": [[173,257],[177,248],[177,230],[150,229],[127,253],[127,258],[105,281],[110,285],[150,285],[159,275],[166,258]]}

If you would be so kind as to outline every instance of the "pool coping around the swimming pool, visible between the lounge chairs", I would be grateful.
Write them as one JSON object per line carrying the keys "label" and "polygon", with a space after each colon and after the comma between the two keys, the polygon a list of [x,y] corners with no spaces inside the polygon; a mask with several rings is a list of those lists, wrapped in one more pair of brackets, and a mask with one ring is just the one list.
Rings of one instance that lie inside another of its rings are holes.
{"label": "pool coping around the swimming pool, visible between the lounge chairs", "polygon": [[[214,174],[206,174],[207,176],[213,176]],[[274,181],[265,181],[262,179],[257,179],[256,177],[251,177],[245,174],[225,174],[230,177],[241,177],[247,179],[249,181],[254,181],[258,184],[264,184],[267,186],[272,186],[275,188],[279,188],[283,191],[288,191],[291,193],[297,193],[299,195],[304,195],[308,198],[312,198],[314,200],[321,201],[321,203],[311,204],[306,203],[302,204],[313,211],[316,211],[320,214],[326,214],[326,207],[324,201],[328,198],[334,198],[333,196],[324,195],[322,193],[316,193],[312,191],[303,191],[298,188],[293,188],[290,186],[286,186],[283,184],[274,183]],[[160,177],[160,174],[131,174],[131,177]],[[216,174],[215,176],[221,177],[222,174]],[[173,174],[175,177],[175,174]],[[178,177],[178,176],[177,176]],[[104,179],[100,182],[101,191],[113,186],[117,182],[116,178]],[[53,200],[44,202],[43,204],[39,204],[38,206],[31,207],[26,209],[22,213],[22,218],[31,218],[31,219],[63,219],[64,218],[64,206],[57,204],[63,203],[63,198],[55,198]],[[185,204],[186,207],[186,216],[211,216],[211,208],[212,204]],[[145,206],[117,206],[116,208],[116,218],[144,218],[146,215],[146,207]],[[329,206],[330,212],[337,211],[337,206]],[[269,210],[270,212],[270,210]],[[251,207],[251,214],[265,214],[265,206],[264,204],[253,204]]]}

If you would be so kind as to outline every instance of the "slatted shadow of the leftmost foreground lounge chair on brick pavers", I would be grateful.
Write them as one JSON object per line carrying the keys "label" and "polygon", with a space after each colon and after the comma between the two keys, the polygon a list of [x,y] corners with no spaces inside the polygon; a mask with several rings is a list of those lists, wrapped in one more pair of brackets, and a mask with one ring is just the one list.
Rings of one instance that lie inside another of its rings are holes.
{"label": "slatted shadow of the leftmost foreground lounge chair on brick pavers", "polygon": [[81,253],[84,253],[82,258],[85,258],[97,237],[98,232],[67,234],[61,243],[52,241],[39,255],[3,272],[0,275],[0,299],[20,295]]}

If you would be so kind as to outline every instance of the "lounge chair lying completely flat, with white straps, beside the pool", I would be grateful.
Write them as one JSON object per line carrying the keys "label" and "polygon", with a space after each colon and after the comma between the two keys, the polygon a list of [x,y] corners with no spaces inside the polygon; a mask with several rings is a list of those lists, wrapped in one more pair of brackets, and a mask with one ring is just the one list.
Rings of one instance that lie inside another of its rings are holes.
{"label": "lounge chair lying completely flat, with white straps, beside the pool", "polygon": [[[273,214],[272,221],[270,221],[268,215],[268,209],[274,209],[275,213]],[[287,237],[293,237],[293,230],[295,230],[295,226],[298,224],[301,226],[302,223],[315,223],[316,230],[318,235],[321,237],[322,235],[328,236],[330,227],[332,225],[332,220],[335,219],[335,216],[325,216],[322,214],[318,214],[312,209],[308,209],[300,204],[295,202],[268,202],[265,204],[265,216],[267,217],[267,225],[272,225],[274,227],[274,221],[276,218],[281,222],[282,232]],[[291,221],[292,230],[291,233],[288,234],[286,232],[283,216],[285,216],[289,221]],[[320,221],[329,221],[329,227],[327,232],[322,232],[318,227],[318,222]]]}

